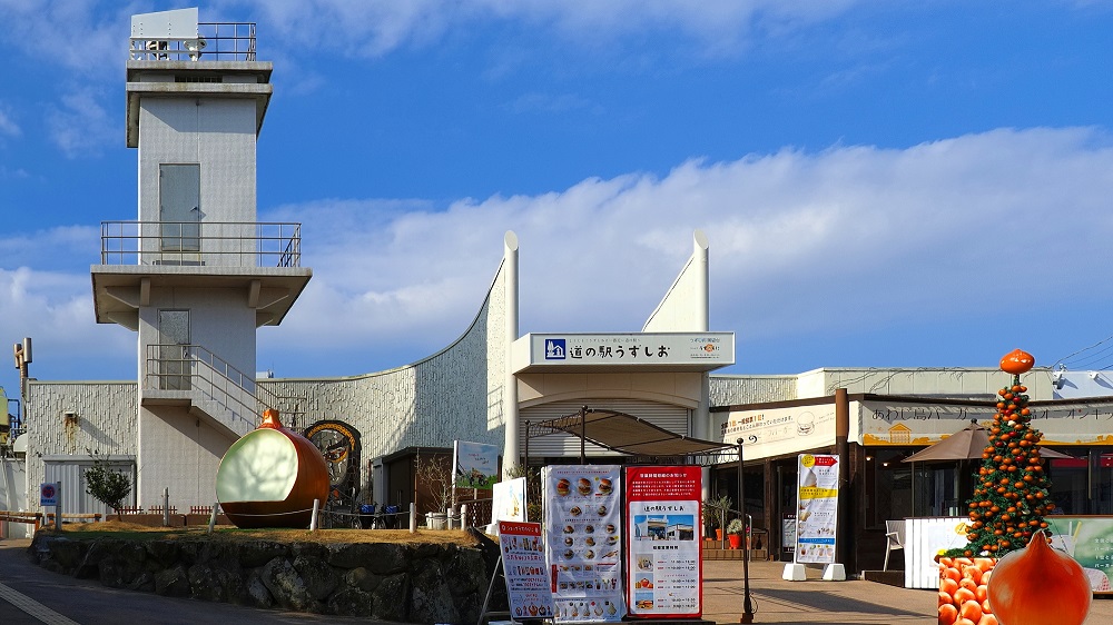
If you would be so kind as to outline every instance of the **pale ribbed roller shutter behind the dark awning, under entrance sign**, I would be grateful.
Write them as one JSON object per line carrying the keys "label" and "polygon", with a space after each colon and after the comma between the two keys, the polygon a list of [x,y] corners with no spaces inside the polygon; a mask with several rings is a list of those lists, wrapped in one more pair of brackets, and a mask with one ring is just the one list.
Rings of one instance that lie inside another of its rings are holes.
{"label": "pale ribbed roller shutter behind the dark awning, under entrance sign", "polygon": [[[525,421],[538,423],[545,419],[554,419],[556,417],[563,417],[565,415],[571,415],[573,413],[579,413],[580,408],[588,406],[588,408],[597,409],[608,409],[618,410],[620,413],[626,413],[634,417],[640,417],[647,421],[664,429],[682,434],[684,436],[691,436],[691,410],[682,406],[673,406],[671,404],[658,404],[656,401],[644,401],[636,399],[595,399],[590,400],[573,400],[573,401],[553,401],[551,404],[542,404],[540,406],[531,406],[529,408],[522,408],[522,439],[519,442],[520,449],[525,450]],[[565,435],[565,434],[549,434],[539,438],[533,438],[529,443],[530,445],[530,458],[541,458],[541,457],[574,457],[580,456],[580,439]],[[617,455],[612,452],[608,452],[601,447],[591,445],[590,443],[584,448],[584,452],[590,455]]]}

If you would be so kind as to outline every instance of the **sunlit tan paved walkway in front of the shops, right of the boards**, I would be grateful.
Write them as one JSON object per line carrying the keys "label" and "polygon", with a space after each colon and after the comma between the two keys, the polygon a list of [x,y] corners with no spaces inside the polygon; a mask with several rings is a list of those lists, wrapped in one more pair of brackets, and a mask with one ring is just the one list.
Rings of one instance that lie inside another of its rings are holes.
{"label": "sunlit tan paved walkway in front of the shops, right of the boards", "polygon": [[[751,562],[754,623],[829,625],[924,625],[938,618],[938,594],[877,582],[826,582],[823,571],[808,569],[806,582],[786,582],[782,562]],[[703,563],[703,618],[738,623],[742,616],[742,563]],[[1085,625],[1113,623],[1113,599],[1095,598]],[[1051,625],[1051,624],[1048,624]]]}

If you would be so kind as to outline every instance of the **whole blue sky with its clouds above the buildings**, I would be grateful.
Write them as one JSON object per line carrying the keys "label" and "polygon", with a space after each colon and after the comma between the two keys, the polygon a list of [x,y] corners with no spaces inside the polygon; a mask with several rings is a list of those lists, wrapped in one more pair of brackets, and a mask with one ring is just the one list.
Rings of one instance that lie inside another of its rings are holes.
{"label": "whole blue sky with its clouds above the buildings", "polygon": [[[93,319],[136,218],[132,13],[0,0],[0,343],[40,379],[134,379]],[[260,220],[314,278],[258,368],[358,375],[465,330],[521,240],[521,330],[637,331],[710,240],[725,373],[1113,366],[1109,2],[218,0],[275,96]],[[1099,345],[1094,349],[1090,346]],[[9,360],[11,363],[11,360]],[[16,369],[0,385],[18,394]]]}

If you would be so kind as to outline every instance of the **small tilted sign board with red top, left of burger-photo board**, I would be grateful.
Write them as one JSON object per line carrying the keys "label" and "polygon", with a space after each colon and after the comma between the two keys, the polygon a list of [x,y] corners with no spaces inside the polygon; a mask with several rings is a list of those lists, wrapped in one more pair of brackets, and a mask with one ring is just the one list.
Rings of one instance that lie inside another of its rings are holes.
{"label": "small tilted sign board with red top, left of burger-photo board", "polygon": [[541,544],[540,523],[499,522],[502,569],[514,621],[549,618],[555,613]]}

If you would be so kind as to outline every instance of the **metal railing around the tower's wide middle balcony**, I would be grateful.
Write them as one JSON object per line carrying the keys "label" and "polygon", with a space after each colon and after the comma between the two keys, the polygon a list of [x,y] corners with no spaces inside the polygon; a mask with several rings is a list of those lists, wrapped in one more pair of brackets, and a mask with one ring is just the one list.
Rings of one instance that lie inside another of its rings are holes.
{"label": "metal railing around the tower's wide middle balcony", "polygon": [[101,265],[301,267],[302,225],[102,221]]}

